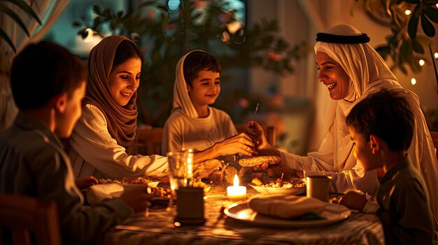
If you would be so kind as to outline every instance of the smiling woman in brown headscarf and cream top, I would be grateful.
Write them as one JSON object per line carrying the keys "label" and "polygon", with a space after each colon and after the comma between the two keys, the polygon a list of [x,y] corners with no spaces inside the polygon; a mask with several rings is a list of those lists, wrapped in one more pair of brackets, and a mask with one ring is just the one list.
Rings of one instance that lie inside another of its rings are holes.
{"label": "smiling woman in brown headscarf and cream top", "polygon": [[164,177],[167,158],[133,155],[143,56],[131,40],[108,36],[90,52],[83,115],[69,139],[76,177]]}

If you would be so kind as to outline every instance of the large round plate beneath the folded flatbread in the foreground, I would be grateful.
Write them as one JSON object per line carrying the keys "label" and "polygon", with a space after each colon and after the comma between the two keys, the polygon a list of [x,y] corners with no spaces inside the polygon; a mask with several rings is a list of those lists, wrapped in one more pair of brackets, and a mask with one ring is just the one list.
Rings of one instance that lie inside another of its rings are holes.
{"label": "large round plate beneath the folded flatbread in the foreground", "polygon": [[225,215],[230,218],[235,218],[238,221],[250,223],[259,226],[268,227],[290,227],[290,228],[307,228],[319,225],[328,225],[331,223],[337,223],[343,221],[351,215],[351,210],[342,206],[332,203],[327,203],[325,210],[320,214],[325,219],[297,221],[286,220],[281,218],[275,218],[273,216],[266,216],[263,214],[257,214],[256,211],[250,209],[248,202],[237,202],[234,205],[230,205],[225,210]]}

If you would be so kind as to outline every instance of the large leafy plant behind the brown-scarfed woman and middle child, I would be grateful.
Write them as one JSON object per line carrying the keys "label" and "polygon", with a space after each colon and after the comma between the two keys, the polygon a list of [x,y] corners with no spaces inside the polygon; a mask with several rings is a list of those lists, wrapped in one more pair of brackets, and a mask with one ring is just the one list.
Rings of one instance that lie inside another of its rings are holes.
{"label": "large leafy plant behind the brown-scarfed woman and middle child", "polygon": [[[276,21],[263,20],[246,26],[239,9],[229,6],[230,1],[181,1],[181,10],[176,18],[169,17],[167,1],[129,1],[127,11],[114,12],[101,3],[92,7],[95,17],[91,22],[86,17],[73,23],[83,37],[118,34],[134,40],[146,56],[141,74],[137,105],[139,121],[153,126],[163,126],[169,117],[173,101],[175,67],[185,52],[202,49],[213,54],[222,70],[261,66],[280,75],[293,72],[292,61],[301,57],[304,43],[291,45],[278,35]],[[245,3],[246,1],[239,1]],[[229,24],[238,24],[237,31],[230,31]],[[221,81],[231,77],[222,73]],[[245,81],[241,81],[245,82]],[[245,86],[246,87],[246,86]],[[239,98],[250,98],[246,89],[233,89],[225,100],[215,105],[234,113]],[[224,95],[225,96],[225,95]],[[239,110],[241,115],[251,107]],[[237,118],[236,121],[239,121]]]}

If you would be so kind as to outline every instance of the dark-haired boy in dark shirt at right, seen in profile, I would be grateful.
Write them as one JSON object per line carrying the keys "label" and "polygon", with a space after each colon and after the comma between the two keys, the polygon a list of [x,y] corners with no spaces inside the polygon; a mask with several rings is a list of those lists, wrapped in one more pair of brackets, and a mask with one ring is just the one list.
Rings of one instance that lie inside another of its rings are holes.
{"label": "dark-haired boy in dark shirt at right, seen in profile", "polygon": [[346,117],[354,156],[365,170],[383,168],[376,201],[348,192],[340,204],[359,211],[375,210],[386,244],[432,244],[435,238],[428,191],[406,154],[414,116],[400,95],[378,91],[360,101]]}

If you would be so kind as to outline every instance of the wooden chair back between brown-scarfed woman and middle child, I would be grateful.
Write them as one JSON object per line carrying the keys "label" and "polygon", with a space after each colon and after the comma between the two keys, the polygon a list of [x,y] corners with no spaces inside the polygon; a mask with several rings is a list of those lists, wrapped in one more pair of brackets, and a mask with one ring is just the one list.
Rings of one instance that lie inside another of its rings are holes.
{"label": "wooden chair back between brown-scarfed woman and middle child", "polygon": [[163,128],[138,129],[136,138],[136,153],[146,156],[161,155]]}

